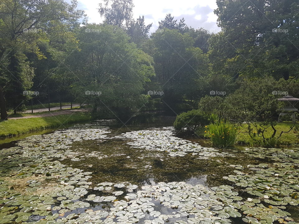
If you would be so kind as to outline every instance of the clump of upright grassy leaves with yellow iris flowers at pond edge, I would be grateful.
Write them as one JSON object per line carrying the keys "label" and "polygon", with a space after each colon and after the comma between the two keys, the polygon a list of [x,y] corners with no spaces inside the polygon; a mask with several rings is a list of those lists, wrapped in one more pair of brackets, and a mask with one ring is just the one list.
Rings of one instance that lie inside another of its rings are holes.
{"label": "clump of upright grassy leaves with yellow iris flowers at pond edge", "polygon": [[237,139],[237,128],[229,120],[216,121],[209,124],[205,131],[206,137],[210,138],[215,147],[224,148],[235,145]]}

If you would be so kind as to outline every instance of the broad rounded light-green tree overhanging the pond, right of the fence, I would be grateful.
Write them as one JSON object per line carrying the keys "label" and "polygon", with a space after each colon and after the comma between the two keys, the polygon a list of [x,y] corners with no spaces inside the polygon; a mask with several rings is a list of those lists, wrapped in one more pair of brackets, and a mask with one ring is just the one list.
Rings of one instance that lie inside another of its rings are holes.
{"label": "broad rounded light-green tree overhanging the pond, right of the fence", "polygon": [[55,72],[72,81],[77,99],[93,102],[94,112],[100,108],[117,117],[142,108],[147,101],[144,87],[154,75],[153,59],[129,43],[130,37],[117,26],[88,24],[78,38],[81,50],[70,54]]}

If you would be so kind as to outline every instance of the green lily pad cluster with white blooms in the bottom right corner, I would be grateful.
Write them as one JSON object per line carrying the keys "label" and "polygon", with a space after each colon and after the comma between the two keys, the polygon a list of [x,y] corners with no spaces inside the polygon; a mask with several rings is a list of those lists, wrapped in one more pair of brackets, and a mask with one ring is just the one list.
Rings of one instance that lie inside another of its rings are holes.
{"label": "green lily pad cluster with white blooms in the bottom right corner", "polygon": [[299,203],[299,169],[292,163],[274,163],[268,165],[248,165],[245,167],[254,173],[247,173],[243,166],[235,166],[235,175],[223,177],[244,188],[244,192],[253,196],[247,198],[239,207],[247,223],[279,223],[294,224],[289,217],[286,206],[297,206]]}

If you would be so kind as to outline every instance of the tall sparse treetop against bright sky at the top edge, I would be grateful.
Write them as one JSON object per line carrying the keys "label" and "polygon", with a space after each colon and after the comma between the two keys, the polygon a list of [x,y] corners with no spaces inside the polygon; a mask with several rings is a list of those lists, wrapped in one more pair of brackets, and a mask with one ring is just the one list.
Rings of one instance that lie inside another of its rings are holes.
{"label": "tall sparse treetop against bright sky at the top edge", "polygon": [[131,21],[133,7],[132,0],[102,0],[98,10],[105,17],[104,22],[122,27]]}

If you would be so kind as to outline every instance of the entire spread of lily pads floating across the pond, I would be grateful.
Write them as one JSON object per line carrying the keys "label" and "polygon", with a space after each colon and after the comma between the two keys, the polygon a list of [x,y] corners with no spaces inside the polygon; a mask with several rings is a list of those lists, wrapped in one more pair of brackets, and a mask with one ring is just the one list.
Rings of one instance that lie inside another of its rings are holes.
{"label": "entire spread of lily pads floating across the pond", "polygon": [[[185,182],[97,184],[89,181],[92,172],[61,163],[82,159],[83,153],[72,148],[75,141],[103,142],[113,138],[108,137],[110,130],[103,126],[106,124],[109,122],[75,125],[25,138],[16,147],[1,150],[0,224],[228,224],[232,217],[253,224],[295,224],[285,211],[285,205],[298,205],[299,165],[293,157],[292,161],[272,166],[235,166],[236,175],[225,179],[252,194],[253,198],[247,200],[228,185],[208,188]],[[128,142],[131,147],[166,151],[172,157],[235,156],[173,135],[172,128],[164,128],[124,133],[115,138],[133,139],[134,142]],[[261,152],[248,149],[246,153],[256,156]],[[255,173],[245,173],[245,169]]]}

